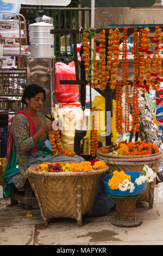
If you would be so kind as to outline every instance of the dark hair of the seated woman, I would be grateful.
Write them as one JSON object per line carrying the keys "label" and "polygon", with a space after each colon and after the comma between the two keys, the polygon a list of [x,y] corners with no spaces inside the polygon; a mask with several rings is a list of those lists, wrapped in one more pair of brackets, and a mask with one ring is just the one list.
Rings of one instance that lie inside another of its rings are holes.
{"label": "dark hair of the seated woman", "polygon": [[43,93],[43,97],[44,97],[44,101],[45,101],[45,99],[46,99],[45,89],[43,89],[41,86],[37,86],[37,84],[30,84],[29,86],[27,86],[25,88],[23,96],[22,96],[23,104],[27,105],[26,98],[30,99],[38,93]]}

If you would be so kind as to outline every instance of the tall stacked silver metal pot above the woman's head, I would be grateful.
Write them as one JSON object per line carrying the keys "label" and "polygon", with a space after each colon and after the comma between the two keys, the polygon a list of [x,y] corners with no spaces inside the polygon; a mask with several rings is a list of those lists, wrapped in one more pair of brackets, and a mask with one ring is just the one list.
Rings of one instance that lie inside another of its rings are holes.
{"label": "tall stacked silver metal pot above the woman's head", "polygon": [[54,56],[54,29],[52,18],[44,16],[29,25],[30,57],[53,57]]}

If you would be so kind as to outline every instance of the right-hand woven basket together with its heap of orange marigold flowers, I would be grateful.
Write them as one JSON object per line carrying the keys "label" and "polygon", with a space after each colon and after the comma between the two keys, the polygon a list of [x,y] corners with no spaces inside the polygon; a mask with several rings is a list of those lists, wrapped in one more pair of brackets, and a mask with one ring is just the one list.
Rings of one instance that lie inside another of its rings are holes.
{"label": "right-hand woven basket together with its heap of orange marigold flowers", "polygon": [[[142,141],[120,142],[97,150],[97,159],[108,164],[110,173],[114,170],[142,172],[145,164],[157,173],[162,156],[162,151],[156,145]],[[156,179],[147,184],[145,192],[139,198],[140,201],[149,203],[149,208],[153,208],[155,181]]]}

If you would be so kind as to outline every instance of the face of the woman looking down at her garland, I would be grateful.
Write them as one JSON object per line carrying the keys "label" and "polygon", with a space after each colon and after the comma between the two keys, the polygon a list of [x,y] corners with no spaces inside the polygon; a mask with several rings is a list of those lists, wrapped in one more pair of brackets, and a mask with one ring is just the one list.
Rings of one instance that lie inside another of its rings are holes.
{"label": "face of the woman looking down at her garland", "polygon": [[27,108],[30,108],[34,111],[40,111],[43,106],[44,96],[43,93],[37,93],[34,97],[30,99],[26,98]]}

